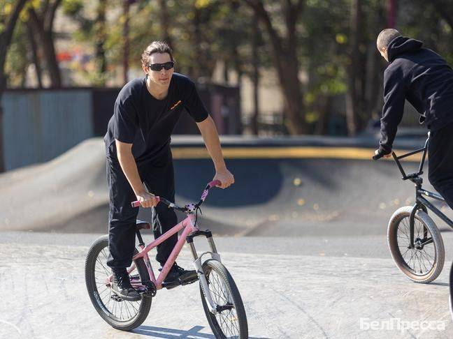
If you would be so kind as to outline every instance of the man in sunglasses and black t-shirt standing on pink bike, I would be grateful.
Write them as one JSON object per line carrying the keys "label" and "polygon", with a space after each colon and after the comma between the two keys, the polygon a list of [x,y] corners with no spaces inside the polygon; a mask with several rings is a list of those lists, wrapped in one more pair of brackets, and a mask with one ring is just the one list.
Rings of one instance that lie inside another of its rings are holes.
{"label": "man in sunglasses and black t-shirt standing on pink bike", "polygon": [[[224,163],[215,123],[201,102],[194,82],[174,73],[170,47],[154,41],[143,52],[141,62],[145,77],[132,80],[122,88],[104,137],[110,197],[107,264],[113,271],[113,292],[129,301],[140,299],[126,270],[134,255],[138,213],[131,202],[138,200],[141,206],[152,208],[156,238],[177,224],[175,212],[158,205],[154,194],[170,201],[175,199],[170,140],[184,108],[203,136],[215,166],[214,180],[220,180],[221,188],[234,183]],[[161,266],[177,241],[178,234],[175,234],[157,246],[156,259]],[[175,263],[165,282],[187,273]]]}

